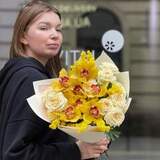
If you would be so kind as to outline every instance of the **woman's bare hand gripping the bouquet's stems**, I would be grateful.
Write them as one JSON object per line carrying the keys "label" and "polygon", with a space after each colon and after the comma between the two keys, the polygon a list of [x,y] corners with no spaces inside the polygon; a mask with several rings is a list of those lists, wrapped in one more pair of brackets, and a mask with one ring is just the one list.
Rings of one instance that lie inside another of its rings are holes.
{"label": "woman's bare hand gripping the bouquet's stems", "polygon": [[81,151],[81,159],[97,158],[108,149],[109,140],[101,139],[96,143],[76,142]]}

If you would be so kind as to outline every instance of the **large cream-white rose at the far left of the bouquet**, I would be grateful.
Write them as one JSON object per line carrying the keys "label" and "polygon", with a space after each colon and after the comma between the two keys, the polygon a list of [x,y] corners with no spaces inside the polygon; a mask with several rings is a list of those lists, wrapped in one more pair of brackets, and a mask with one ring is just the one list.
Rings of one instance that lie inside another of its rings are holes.
{"label": "large cream-white rose at the far left of the bouquet", "polygon": [[55,92],[53,90],[45,92],[43,101],[48,112],[61,111],[67,104],[67,99],[64,97],[63,93]]}

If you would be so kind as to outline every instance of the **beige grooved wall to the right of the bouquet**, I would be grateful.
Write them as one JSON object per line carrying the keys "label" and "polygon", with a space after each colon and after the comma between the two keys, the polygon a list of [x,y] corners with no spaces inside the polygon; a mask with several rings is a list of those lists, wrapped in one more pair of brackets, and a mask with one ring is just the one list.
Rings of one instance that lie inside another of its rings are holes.
{"label": "beige grooved wall to the right of the bouquet", "polygon": [[[157,41],[150,47],[150,1],[116,1],[125,14],[129,27],[129,69],[135,112],[160,111],[160,2],[157,5],[157,28],[152,31]],[[155,32],[155,33],[154,33]],[[153,49],[153,50],[152,50]],[[134,114],[134,113],[133,113]]]}

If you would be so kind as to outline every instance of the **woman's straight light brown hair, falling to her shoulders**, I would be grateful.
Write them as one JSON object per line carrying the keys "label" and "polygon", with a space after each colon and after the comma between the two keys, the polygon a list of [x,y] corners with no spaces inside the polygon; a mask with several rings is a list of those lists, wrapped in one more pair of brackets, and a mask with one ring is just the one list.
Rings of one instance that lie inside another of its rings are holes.
{"label": "woman's straight light brown hair, falling to her shoulders", "polygon": [[[13,37],[10,47],[11,58],[25,56],[25,47],[24,44],[20,42],[20,39],[23,37],[24,32],[34,22],[38,15],[49,11],[56,13],[61,19],[61,15],[55,7],[40,0],[32,0],[20,10],[14,25]],[[54,58],[49,59],[46,68],[50,73],[58,75],[58,72],[61,69],[59,53],[54,56]]]}

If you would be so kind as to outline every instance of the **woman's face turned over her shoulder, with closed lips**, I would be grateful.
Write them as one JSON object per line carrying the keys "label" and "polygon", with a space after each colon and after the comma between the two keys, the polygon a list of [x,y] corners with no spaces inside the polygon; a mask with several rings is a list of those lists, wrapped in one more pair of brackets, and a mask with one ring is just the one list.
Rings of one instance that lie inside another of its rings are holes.
{"label": "woman's face turned over her shoulder, with closed lips", "polygon": [[46,63],[60,50],[61,27],[61,20],[56,13],[46,12],[40,15],[29,26],[21,40],[25,45],[25,55]]}

